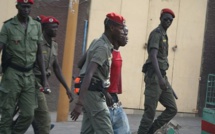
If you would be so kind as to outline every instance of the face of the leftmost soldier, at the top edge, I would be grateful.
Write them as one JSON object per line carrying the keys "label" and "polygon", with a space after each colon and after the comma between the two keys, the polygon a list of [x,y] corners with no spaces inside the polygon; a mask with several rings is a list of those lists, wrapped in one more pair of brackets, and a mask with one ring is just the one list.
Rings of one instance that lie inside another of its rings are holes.
{"label": "face of the leftmost soldier, at the top edge", "polygon": [[16,8],[18,9],[18,15],[23,18],[27,18],[31,12],[30,3],[18,3]]}

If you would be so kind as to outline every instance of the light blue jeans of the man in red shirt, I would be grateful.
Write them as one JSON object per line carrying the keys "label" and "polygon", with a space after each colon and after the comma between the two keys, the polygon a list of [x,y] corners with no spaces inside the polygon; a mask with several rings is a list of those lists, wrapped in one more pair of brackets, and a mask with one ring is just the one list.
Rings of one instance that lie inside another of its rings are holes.
{"label": "light blue jeans of the man in red shirt", "polygon": [[131,134],[128,118],[123,108],[109,108],[114,134]]}

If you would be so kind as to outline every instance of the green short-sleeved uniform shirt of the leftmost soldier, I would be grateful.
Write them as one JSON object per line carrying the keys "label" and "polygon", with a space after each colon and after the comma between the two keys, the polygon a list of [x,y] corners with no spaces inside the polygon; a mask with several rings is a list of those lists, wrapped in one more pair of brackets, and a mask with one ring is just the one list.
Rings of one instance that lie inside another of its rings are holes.
{"label": "green short-sleeved uniform shirt of the leftmost soldier", "polygon": [[42,40],[40,23],[30,16],[26,30],[15,16],[4,23],[0,32],[0,42],[6,45],[6,52],[12,56],[11,62],[22,67],[35,63],[38,44]]}

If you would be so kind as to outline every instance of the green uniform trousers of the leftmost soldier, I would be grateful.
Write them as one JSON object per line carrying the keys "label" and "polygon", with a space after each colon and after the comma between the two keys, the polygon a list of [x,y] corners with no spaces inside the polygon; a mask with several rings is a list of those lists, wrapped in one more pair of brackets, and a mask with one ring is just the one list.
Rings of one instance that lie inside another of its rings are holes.
{"label": "green uniform trousers of the leftmost soldier", "polygon": [[[0,85],[0,134],[24,134],[27,131],[34,117],[35,96],[33,71],[19,72],[8,67]],[[16,106],[20,112],[12,125]]]}

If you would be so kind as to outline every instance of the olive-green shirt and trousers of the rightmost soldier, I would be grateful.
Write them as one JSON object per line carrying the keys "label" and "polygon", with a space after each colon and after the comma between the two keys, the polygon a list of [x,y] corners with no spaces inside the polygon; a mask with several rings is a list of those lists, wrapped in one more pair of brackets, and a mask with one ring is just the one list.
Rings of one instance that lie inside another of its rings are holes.
{"label": "olive-green shirt and trousers of the rightmost soldier", "polygon": [[[168,123],[177,113],[172,87],[168,82],[166,74],[163,73],[168,69],[169,63],[167,59],[168,37],[162,26],[158,26],[149,36],[148,53],[150,53],[151,49],[158,50],[158,65],[168,89],[162,90],[160,88],[158,76],[152,67],[152,61],[148,58],[145,63],[145,65],[148,65],[145,74],[145,110],[140,122],[138,134],[148,134],[149,128],[151,128],[151,131],[155,132],[165,123]],[[158,102],[160,102],[166,109],[153,122]]]}

